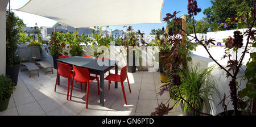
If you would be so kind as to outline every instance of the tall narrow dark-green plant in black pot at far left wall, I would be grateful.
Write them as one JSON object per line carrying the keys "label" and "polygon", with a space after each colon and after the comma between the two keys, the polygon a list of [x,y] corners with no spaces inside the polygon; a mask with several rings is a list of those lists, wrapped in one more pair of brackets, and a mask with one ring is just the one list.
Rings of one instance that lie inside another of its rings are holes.
{"label": "tall narrow dark-green plant in black pot at far left wall", "polygon": [[14,12],[6,11],[6,75],[9,75],[15,86],[18,82],[20,58],[16,54],[19,33],[24,27],[21,19]]}

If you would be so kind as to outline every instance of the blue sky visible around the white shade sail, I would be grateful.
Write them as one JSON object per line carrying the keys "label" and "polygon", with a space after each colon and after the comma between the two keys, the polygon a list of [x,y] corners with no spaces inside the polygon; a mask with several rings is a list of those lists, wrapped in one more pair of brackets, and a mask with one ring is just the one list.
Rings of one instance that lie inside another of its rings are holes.
{"label": "blue sky visible around the white shade sail", "polygon": [[[139,0],[138,0],[139,1]],[[28,2],[28,0],[11,0],[11,9],[19,9],[19,7],[22,7]],[[187,0],[165,0],[163,4],[161,19],[163,19],[167,13],[173,13],[174,11],[180,11],[178,16],[181,16],[183,14],[187,14]],[[197,14],[196,20],[203,19],[205,16],[203,14],[203,10],[207,9],[208,7],[212,6],[210,3],[210,0],[197,0],[197,5],[201,8],[201,12]],[[8,7],[8,6],[7,6]],[[37,16],[33,14],[28,14],[26,12],[19,12],[14,11],[19,18],[23,19],[23,22],[27,24],[28,27],[35,26],[35,23],[38,24],[38,26],[48,26],[52,27],[56,21],[44,18],[42,16]],[[163,22],[163,24],[131,24],[129,26],[133,26],[133,29],[137,31],[140,29],[142,32],[149,34],[151,32],[151,29],[158,29],[166,26],[166,23]],[[106,29],[104,27],[103,29]],[[123,29],[126,31],[123,26],[109,26],[109,29]]]}

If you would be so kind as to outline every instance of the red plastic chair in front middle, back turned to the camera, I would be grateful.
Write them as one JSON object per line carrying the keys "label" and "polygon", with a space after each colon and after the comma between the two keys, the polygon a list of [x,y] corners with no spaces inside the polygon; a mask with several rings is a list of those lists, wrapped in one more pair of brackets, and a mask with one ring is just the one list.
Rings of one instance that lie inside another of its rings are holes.
{"label": "red plastic chair in front middle, back turned to the camera", "polygon": [[[90,76],[89,70],[86,68],[81,68],[77,66],[73,66],[74,69],[74,74],[73,74],[73,81],[72,81],[72,86],[71,86],[71,94],[70,94],[70,100],[72,97],[72,91],[73,91],[73,84],[74,84],[74,79],[77,82],[85,83],[87,86],[86,90],[86,108],[88,108],[88,99],[89,99],[89,83],[92,82],[94,79],[97,80],[98,83],[98,77],[92,77]],[[100,95],[100,85],[98,83],[98,95]]]}

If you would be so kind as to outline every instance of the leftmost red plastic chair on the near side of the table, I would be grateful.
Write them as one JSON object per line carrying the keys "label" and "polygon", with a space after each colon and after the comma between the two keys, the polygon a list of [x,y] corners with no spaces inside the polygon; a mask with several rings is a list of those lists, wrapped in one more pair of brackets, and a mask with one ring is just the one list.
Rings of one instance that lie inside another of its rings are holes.
{"label": "leftmost red plastic chair on the near side of the table", "polygon": [[73,72],[70,69],[70,66],[68,64],[63,64],[61,62],[58,62],[58,71],[57,71],[57,77],[56,77],[56,83],[55,83],[55,89],[56,92],[56,86],[59,75],[64,78],[68,78],[68,94],[67,94],[67,100],[69,96],[69,84],[71,83],[71,79],[73,77]]}

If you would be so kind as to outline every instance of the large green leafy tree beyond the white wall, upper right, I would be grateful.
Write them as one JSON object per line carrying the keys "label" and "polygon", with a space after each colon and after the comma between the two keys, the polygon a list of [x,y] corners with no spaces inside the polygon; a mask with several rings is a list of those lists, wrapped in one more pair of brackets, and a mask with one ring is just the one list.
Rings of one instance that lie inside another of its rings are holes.
{"label": "large green leafy tree beyond the white wall, upper right", "polygon": [[[217,30],[218,23],[224,23],[226,19],[233,18],[238,12],[245,14],[250,11],[253,5],[253,0],[212,0],[212,7],[203,11],[207,22],[210,24],[210,29]],[[240,15],[237,15],[240,16]],[[243,26],[245,28],[246,26]],[[236,29],[236,24],[228,26],[226,29]],[[224,30],[224,27],[219,30]]]}

